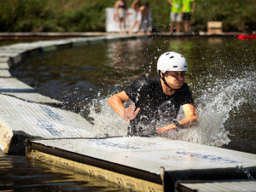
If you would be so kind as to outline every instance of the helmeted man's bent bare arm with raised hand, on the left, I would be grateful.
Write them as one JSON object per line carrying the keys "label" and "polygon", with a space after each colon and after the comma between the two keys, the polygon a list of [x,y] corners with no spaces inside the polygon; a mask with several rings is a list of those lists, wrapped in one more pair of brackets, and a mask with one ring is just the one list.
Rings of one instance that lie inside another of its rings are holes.
{"label": "helmeted man's bent bare arm with raised hand, on the left", "polygon": [[125,93],[125,91],[121,91],[113,96],[111,96],[108,99],[108,105],[113,108],[115,113],[119,114],[119,116],[125,120],[131,120],[134,119],[137,116],[137,113],[139,112],[140,108],[137,108],[136,111],[134,111],[133,106],[129,106],[129,108],[124,107],[124,102],[130,102],[129,96]]}

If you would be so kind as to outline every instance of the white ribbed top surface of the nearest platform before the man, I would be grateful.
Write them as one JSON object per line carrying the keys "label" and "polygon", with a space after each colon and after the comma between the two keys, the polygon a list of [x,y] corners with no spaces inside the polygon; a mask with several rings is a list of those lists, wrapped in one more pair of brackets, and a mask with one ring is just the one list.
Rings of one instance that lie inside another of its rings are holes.
{"label": "white ribbed top surface of the nearest platform before the man", "polygon": [[256,166],[256,154],[163,137],[42,140],[35,143],[155,174],[160,174],[162,166],[166,171]]}

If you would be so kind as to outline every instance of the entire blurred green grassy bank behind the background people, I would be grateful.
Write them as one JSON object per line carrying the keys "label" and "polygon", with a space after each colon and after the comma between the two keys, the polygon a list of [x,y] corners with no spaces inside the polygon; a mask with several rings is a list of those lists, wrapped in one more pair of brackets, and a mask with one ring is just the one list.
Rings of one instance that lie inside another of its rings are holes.
{"label": "entire blurred green grassy bank behind the background people", "polygon": [[[126,1],[131,5],[132,0]],[[145,2],[145,1],[142,1]],[[104,32],[105,9],[115,0],[0,0],[1,32]],[[169,28],[167,0],[148,1],[154,31]],[[222,20],[224,31],[255,30],[254,0],[196,0],[191,23],[205,30],[208,20]]]}

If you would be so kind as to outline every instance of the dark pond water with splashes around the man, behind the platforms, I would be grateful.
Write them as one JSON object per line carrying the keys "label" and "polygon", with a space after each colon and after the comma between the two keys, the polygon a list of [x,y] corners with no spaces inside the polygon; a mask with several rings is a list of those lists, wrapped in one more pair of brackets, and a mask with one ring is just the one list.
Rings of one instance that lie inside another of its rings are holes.
{"label": "dark pond water with splashes around the man, behind the platforms", "polygon": [[[189,63],[186,81],[200,120],[163,136],[256,154],[255,45],[236,38],[147,38],[37,55],[12,73],[42,95],[65,102],[63,108],[83,115],[99,135],[123,136],[127,122],[108,107],[108,96],[135,79],[156,77],[157,58],[176,51]],[[20,168],[29,163],[23,160]]]}

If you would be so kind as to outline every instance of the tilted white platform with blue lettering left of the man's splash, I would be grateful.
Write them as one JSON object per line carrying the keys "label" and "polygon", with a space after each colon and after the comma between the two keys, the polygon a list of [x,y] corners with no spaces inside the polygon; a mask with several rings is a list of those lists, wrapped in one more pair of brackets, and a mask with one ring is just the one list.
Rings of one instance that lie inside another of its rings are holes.
{"label": "tilted white platform with blue lettering left of the man's splash", "polygon": [[43,138],[93,136],[93,126],[78,113],[1,94],[0,103],[0,147],[6,153],[19,131]]}

